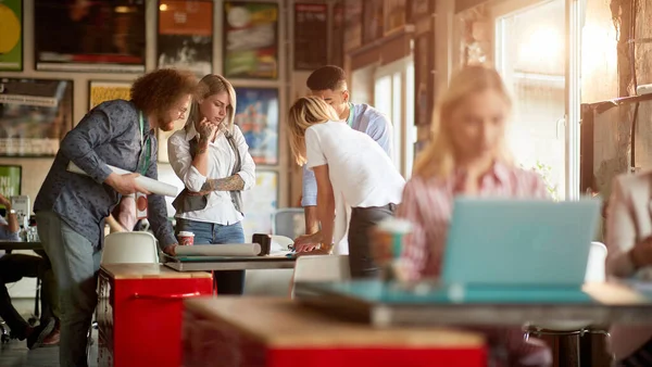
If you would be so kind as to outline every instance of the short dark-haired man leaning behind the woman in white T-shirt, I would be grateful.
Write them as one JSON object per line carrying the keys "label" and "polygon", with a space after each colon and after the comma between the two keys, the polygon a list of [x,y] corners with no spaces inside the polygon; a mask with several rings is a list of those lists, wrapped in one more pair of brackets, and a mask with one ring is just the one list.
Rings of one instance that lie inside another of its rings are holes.
{"label": "short dark-haired man leaning behind the woman in white T-shirt", "polygon": [[[338,115],[351,128],[362,131],[374,139],[388,156],[392,150],[391,123],[383,113],[364,103],[352,103],[349,100],[347,74],[338,66],[323,66],[314,71],[306,80],[311,96],[322,98],[330,104]],[[317,218],[317,182],[313,170],[303,166],[303,195],[301,205],[305,212],[305,233],[296,239],[294,248],[304,250],[314,248],[324,239],[319,231]]]}

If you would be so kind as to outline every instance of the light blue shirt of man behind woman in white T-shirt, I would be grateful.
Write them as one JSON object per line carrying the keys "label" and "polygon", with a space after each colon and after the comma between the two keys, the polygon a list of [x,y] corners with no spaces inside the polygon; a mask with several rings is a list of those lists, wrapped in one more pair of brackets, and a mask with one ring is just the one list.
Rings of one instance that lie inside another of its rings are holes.
{"label": "light blue shirt of man behind woman in white T-shirt", "polygon": [[[372,137],[391,156],[391,123],[380,111],[368,104],[352,104],[351,127]],[[303,165],[303,195],[301,206],[317,205],[317,180],[315,173]]]}

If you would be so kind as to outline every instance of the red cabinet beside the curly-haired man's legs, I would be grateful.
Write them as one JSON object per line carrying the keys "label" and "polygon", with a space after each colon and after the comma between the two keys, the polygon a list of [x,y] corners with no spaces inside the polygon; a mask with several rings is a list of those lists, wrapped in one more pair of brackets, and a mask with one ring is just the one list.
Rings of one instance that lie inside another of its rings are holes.
{"label": "red cabinet beside the curly-haired man's legs", "polygon": [[98,365],[180,366],[184,300],[211,292],[209,273],[178,273],[159,264],[103,265]]}

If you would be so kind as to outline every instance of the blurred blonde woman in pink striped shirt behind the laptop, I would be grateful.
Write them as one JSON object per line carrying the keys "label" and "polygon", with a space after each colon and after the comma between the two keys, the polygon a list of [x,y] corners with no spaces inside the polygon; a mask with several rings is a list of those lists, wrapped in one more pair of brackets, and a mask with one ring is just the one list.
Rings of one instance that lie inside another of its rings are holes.
{"label": "blurred blonde woman in pink striped shirt behind the laptop", "polygon": [[[506,150],[511,110],[506,88],[493,68],[467,66],[441,94],[428,147],[405,185],[397,217],[412,223],[401,264],[405,278],[438,278],[455,195],[549,198],[535,172],[518,168]],[[383,251],[379,251],[383,253]],[[380,262],[387,261],[387,255]],[[378,258],[378,257],[376,257]],[[493,347],[507,352],[510,366],[548,366],[551,351],[519,328],[477,328]]]}

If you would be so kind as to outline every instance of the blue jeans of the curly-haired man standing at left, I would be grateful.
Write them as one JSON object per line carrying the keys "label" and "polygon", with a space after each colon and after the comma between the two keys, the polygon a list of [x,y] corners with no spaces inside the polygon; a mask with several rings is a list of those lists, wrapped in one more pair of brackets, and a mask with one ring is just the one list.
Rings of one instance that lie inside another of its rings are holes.
{"label": "blue jeans of the curly-haired man standing at left", "polygon": [[59,363],[66,367],[86,367],[87,334],[98,303],[96,288],[102,252],[53,212],[37,212],[36,220],[38,237],[59,287]]}

